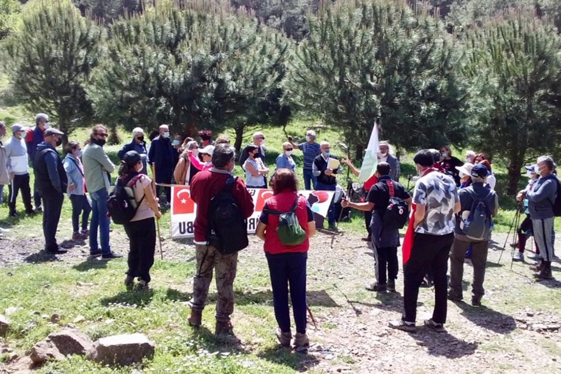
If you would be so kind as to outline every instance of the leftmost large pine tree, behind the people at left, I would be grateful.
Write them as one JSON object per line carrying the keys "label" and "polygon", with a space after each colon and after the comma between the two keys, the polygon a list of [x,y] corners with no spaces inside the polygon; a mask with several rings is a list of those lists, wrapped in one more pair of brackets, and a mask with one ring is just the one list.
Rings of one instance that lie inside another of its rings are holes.
{"label": "leftmost large pine tree, behind the people at left", "polygon": [[93,113],[84,85],[97,63],[101,36],[70,0],[27,3],[21,30],[6,39],[13,94],[32,112],[50,114],[66,134],[89,124]]}

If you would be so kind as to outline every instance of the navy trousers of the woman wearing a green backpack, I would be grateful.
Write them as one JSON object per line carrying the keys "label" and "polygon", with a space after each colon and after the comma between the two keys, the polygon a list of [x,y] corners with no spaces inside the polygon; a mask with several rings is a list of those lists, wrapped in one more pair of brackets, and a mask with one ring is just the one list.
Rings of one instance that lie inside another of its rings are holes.
{"label": "navy trousers of the woman wearing a green backpack", "polygon": [[288,285],[296,332],[306,333],[306,260],[307,253],[266,253],[273,288],[275,318],[283,333],[290,331]]}

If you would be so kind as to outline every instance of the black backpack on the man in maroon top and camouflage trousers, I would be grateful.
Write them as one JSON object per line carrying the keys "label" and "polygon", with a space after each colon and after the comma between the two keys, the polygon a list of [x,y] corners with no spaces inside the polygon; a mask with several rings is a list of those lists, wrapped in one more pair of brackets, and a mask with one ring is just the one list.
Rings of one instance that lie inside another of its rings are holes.
{"label": "black backpack on the man in maroon top and camouflage trousers", "polygon": [[249,246],[247,220],[232,195],[236,179],[229,177],[223,190],[210,200],[207,239],[209,245],[223,255],[231,255]]}

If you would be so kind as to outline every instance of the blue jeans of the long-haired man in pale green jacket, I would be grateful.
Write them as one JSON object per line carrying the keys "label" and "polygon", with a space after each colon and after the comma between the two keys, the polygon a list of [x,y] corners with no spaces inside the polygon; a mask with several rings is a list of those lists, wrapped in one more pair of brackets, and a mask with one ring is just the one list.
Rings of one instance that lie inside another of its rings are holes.
{"label": "blue jeans of the long-haired man in pale green jacket", "polygon": [[102,247],[102,255],[111,253],[109,246],[109,218],[107,216],[107,199],[109,193],[106,188],[90,192],[91,197],[91,222],[90,222],[90,253],[99,251],[99,242]]}

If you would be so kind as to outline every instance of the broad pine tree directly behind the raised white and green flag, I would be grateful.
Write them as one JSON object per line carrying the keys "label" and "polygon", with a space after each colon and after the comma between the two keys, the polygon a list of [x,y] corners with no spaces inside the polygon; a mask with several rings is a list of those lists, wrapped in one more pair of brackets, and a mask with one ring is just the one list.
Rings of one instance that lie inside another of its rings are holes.
{"label": "broad pine tree directly behind the raised white and green flag", "polygon": [[340,128],[357,157],[376,117],[383,137],[409,149],[465,141],[465,88],[437,17],[406,2],[347,0],[309,20],[286,100]]}

